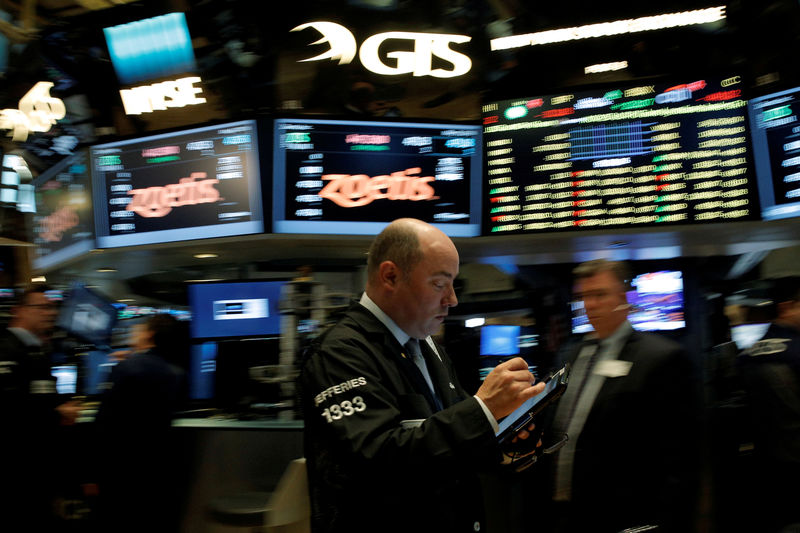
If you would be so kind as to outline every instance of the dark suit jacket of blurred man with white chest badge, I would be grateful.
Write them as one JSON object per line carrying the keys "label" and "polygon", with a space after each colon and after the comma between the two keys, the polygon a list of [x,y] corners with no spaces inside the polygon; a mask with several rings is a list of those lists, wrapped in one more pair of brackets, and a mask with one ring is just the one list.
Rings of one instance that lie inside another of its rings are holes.
{"label": "dark suit jacket of blurred man with white chest badge", "polygon": [[691,531],[701,440],[694,367],[679,344],[638,331],[617,359],[630,372],[605,378],[578,437],[571,530]]}

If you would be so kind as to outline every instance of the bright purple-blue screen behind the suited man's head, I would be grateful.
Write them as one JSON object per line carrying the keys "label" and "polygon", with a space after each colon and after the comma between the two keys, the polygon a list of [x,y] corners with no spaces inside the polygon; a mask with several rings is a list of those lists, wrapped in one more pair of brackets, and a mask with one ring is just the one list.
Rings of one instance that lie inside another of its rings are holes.
{"label": "bright purple-blue screen behind the suited man's head", "polygon": [[[639,274],[631,281],[626,296],[628,321],[639,331],[670,331],[686,327],[683,303],[683,273],[662,270]],[[594,331],[583,302],[572,302],[572,332]]]}

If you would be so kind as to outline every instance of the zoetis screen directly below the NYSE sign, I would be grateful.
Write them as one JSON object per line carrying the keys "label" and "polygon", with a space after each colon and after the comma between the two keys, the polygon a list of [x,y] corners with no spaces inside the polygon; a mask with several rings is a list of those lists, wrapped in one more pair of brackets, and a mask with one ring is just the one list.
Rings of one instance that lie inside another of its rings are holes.
{"label": "zoetis screen directly below the NYSE sign", "polygon": [[264,231],[253,120],[91,148],[100,248]]}

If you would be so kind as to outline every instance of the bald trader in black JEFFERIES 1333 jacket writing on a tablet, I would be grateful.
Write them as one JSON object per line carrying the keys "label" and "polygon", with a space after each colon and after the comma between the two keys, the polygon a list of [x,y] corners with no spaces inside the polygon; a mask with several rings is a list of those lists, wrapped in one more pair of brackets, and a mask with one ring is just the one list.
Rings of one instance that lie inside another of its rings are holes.
{"label": "bald trader in black JEFFERIES 1333 jacket writing on a tablet", "polygon": [[394,221],[370,247],[360,302],[306,354],[300,387],[315,533],[482,530],[478,473],[501,461],[497,421],[544,386],[515,358],[474,396],[461,388],[430,337],[458,303],[458,269],[444,233]]}

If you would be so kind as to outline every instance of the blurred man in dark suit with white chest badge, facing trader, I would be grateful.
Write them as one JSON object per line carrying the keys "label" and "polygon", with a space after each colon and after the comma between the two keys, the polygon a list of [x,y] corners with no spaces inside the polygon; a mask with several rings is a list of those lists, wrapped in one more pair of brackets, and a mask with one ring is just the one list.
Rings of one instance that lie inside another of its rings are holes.
{"label": "blurred man in dark suit with white chest badge, facing trader", "polygon": [[700,440],[693,365],[678,343],[633,329],[624,263],[588,261],[573,275],[594,332],[565,352],[569,386],[549,428],[553,439],[567,436],[549,469],[554,530],[692,531]]}

